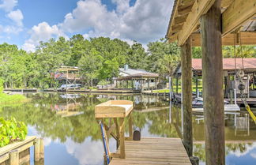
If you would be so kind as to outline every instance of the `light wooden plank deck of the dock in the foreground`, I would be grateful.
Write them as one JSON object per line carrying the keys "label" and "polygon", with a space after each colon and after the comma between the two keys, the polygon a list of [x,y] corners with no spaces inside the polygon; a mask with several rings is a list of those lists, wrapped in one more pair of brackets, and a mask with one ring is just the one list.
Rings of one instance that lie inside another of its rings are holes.
{"label": "light wooden plank deck of the dock in the foreground", "polygon": [[125,146],[126,159],[113,158],[110,165],[191,165],[183,142],[179,138],[145,137],[141,138],[141,141],[125,141]]}

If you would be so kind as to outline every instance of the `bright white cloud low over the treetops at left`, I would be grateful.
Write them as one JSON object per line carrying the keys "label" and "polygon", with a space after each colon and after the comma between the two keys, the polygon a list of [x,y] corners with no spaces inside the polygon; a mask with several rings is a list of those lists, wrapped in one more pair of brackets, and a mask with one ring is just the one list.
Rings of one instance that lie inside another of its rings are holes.
{"label": "bright white cloud low over the treetops at left", "polygon": [[58,28],[57,25],[50,26],[47,22],[42,22],[32,27],[29,32],[30,38],[25,41],[22,48],[24,51],[35,51],[36,46],[40,41],[47,41],[48,39],[66,35]]}

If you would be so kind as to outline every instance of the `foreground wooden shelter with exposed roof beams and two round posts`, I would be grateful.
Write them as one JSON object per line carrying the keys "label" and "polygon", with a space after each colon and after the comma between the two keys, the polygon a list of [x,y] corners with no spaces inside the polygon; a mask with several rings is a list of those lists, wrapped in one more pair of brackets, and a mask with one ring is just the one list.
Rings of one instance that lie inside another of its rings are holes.
{"label": "foreground wooden shelter with exposed roof beams and two round posts", "polygon": [[166,38],[170,43],[177,40],[181,47],[183,143],[188,155],[192,156],[191,47],[200,45],[205,158],[209,165],[225,164],[222,46],[255,45],[255,15],[256,0],[175,0],[174,2]]}

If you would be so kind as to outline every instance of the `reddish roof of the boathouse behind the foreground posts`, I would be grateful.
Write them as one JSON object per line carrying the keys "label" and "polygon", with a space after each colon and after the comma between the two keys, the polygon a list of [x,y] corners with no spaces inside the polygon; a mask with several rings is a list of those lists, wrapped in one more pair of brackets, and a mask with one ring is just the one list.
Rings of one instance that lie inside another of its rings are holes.
{"label": "reddish roof of the boathouse behind the foreground posts", "polygon": [[[234,70],[236,61],[236,69],[256,69],[256,58],[223,58],[223,69]],[[201,70],[201,58],[192,59],[192,68]]]}

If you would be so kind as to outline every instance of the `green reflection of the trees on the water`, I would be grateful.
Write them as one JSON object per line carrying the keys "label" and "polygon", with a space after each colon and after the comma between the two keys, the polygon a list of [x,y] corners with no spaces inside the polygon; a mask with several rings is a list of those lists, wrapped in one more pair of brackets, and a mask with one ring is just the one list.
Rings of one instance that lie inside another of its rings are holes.
{"label": "green reflection of the trees on the water", "polygon": [[[70,138],[77,143],[85,141],[86,137],[92,137],[92,141],[101,139],[100,128],[94,117],[94,107],[97,104],[103,103],[108,99],[134,99],[134,96],[107,98],[84,95],[77,99],[77,102],[81,103],[81,107],[78,107],[77,111],[83,111],[84,114],[62,118],[51,108],[55,103],[66,103],[66,100],[60,98],[58,94],[40,93],[28,97],[32,98],[30,103],[25,103],[15,108],[4,107],[0,114],[7,118],[13,116],[30,126],[34,126],[36,131],[43,137],[51,137],[52,140],[59,139],[61,142],[65,142],[67,138]],[[154,106],[153,102],[144,104]],[[156,103],[156,106],[159,105],[159,103]],[[149,133],[160,137],[178,137],[175,127],[167,122],[168,110],[148,113],[135,111],[133,118],[134,126],[143,129],[145,125],[148,125]],[[126,132],[128,132],[127,128]]]}

